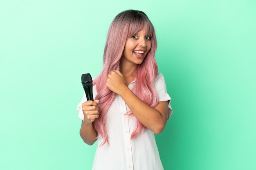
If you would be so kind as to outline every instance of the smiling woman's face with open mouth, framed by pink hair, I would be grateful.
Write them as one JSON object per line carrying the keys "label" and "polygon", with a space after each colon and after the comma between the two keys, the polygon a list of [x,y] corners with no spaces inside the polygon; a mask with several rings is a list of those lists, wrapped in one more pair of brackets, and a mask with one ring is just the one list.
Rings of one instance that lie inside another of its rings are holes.
{"label": "smiling woman's face with open mouth, framed by pink hair", "polygon": [[127,38],[122,62],[126,62],[127,64],[141,64],[150,49],[151,37],[147,35],[147,30],[144,26],[139,32],[132,35],[132,37]]}

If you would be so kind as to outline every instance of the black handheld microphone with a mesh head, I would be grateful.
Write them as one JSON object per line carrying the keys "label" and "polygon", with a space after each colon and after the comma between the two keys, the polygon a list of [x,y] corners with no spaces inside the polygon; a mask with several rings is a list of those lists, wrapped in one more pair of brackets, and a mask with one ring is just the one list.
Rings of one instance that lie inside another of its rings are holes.
{"label": "black handheld microphone with a mesh head", "polygon": [[92,76],[90,75],[90,73],[83,74],[81,79],[87,100],[93,100]]}

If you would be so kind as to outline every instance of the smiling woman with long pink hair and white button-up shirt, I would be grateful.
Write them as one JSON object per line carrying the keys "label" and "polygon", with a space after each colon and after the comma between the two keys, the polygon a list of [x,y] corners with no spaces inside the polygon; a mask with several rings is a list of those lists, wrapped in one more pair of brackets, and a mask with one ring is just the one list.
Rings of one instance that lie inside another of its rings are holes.
{"label": "smiling woman with long pink hair and white button-up shirt", "polygon": [[163,170],[154,133],[164,130],[172,110],[156,49],[144,12],[123,11],[112,21],[94,101],[84,94],[77,107],[81,138],[88,145],[98,140],[93,170]]}

